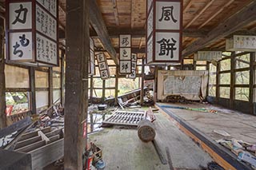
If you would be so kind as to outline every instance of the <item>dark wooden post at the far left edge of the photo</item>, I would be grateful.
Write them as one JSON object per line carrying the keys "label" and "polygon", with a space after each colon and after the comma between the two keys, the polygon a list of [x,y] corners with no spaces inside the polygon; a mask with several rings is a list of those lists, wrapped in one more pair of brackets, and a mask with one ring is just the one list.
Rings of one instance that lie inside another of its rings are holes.
{"label": "dark wooden post at the far left edge of the photo", "polygon": [[3,36],[4,30],[0,26],[0,129],[6,127],[6,78]]}

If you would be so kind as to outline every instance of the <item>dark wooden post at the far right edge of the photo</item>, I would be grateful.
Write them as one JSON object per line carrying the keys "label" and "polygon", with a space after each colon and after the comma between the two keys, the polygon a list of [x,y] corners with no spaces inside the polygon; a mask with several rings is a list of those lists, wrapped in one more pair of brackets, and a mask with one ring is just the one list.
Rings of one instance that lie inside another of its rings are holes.
{"label": "dark wooden post at the far right edge of the photo", "polygon": [[254,61],[255,61],[255,52],[250,53],[249,102],[250,102],[250,113],[251,114],[254,114],[254,82],[255,82]]}

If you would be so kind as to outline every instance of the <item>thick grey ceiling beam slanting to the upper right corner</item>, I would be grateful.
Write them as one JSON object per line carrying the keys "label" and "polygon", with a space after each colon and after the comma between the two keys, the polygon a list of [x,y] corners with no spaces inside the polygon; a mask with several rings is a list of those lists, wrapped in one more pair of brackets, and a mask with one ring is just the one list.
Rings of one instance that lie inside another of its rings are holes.
{"label": "thick grey ceiling beam slanting to the upper right corner", "polygon": [[251,2],[248,6],[244,7],[233,17],[228,18],[226,21],[221,22],[213,30],[211,30],[206,37],[199,38],[197,41],[193,42],[191,45],[183,49],[182,56],[188,56],[191,53],[204,48],[204,46],[209,45],[220,38],[225,38],[229,34],[233,34],[235,31],[241,29],[243,26],[248,25],[250,22],[255,20],[256,16],[256,2]]}

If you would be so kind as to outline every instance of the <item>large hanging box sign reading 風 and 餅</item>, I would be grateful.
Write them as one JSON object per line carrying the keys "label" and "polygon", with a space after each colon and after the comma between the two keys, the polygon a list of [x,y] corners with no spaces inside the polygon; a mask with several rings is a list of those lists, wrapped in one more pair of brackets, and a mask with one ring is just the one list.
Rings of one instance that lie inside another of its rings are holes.
{"label": "large hanging box sign reading \u98a8 and \u9905", "polygon": [[178,62],[182,46],[182,1],[147,0],[146,62]]}

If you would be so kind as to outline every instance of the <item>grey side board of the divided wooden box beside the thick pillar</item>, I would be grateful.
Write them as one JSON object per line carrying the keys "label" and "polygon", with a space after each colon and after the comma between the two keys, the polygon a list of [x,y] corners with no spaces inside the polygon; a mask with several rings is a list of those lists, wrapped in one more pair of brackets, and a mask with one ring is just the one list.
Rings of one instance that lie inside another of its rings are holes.
{"label": "grey side board of the divided wooden box beside the thick pillar", "polygon": [[[57,140],[31,152],[32,169],[40,169],[64,156],[64,140]],[[82,168],[81,168],[82,169]]]}

